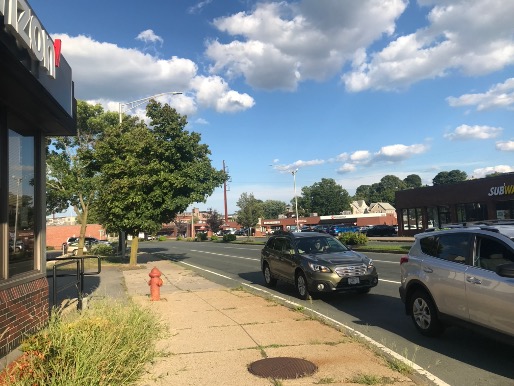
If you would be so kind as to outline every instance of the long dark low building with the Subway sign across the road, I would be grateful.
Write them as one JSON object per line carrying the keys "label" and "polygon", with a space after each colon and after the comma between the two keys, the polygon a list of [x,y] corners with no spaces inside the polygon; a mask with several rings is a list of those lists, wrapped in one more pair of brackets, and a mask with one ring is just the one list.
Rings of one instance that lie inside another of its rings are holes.
{"label": "long dark low building with the Subway sign across the road", "polygon": [[396,192],[398,234],[473,221],[514,221],[514,173]]}

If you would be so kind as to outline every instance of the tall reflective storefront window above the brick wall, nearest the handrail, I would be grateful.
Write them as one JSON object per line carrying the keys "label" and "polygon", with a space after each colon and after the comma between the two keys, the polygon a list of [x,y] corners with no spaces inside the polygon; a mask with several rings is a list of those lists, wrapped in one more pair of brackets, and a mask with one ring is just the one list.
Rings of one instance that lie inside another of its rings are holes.
{"label": "tall reflective storefront window above the brick wall, nearest the handrail", "polygon": [[9,130],[9,276],[34,269],[34,137]]}

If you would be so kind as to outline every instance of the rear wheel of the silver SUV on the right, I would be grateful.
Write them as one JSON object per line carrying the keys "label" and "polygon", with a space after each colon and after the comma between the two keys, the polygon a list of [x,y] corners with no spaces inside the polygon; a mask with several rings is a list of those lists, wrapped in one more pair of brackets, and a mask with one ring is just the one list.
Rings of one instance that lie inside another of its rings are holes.
{"label": "rear wheel of the silver SUV on the right", "polygon": [[443,324],[437,316],[437,309],[425,291],[416,291],[410,299],[412,321],[416,329],[426,336],[439,336]]}

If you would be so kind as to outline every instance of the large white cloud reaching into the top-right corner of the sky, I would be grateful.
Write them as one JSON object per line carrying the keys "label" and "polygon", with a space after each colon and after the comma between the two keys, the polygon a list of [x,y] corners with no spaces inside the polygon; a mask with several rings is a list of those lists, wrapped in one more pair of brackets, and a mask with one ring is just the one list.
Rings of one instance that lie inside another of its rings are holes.
{"label": "large white cloud reaching into the top-right corner of the sky", "polygon": [[347,90],[395,90],[444,77],[491,73],[514,64],[514,2],[426,0],[429,26],[398,36],[383,50],[353,63],[344,74]]}

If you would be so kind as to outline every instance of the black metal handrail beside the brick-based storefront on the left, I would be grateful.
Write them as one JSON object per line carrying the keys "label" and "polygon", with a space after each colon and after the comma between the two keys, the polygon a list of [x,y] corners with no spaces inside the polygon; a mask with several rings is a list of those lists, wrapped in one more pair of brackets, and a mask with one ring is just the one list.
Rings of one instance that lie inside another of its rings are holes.
{"label": "black metal handrail beside the brick-based storefront on the left", "polygon": [[[85,272],[84,269],[84,261],[85,259],[97,259],[98,261],[98,268],[96,272]],[[52,275],[47,277],[51,277],[53,280],[53,291],[52,291],[52,301],[53,305],[55,306],[57,304],[57,294],[61,291],[64,291],[67,288],[70,288],[72,286],[75,286],[77,288],[77,309],[82,310],[82,295],[84,293],[84,276],[91,276],[91,275],[98,275],[102,271],[102,262],[99,256],[76,256],[76,257],[65,257],[60,258],[59,261],[61,263],[56,263],[53,266],[52,269]],[[57,273],[57,269],[60,267],[66,267],[71,265],[76,265],[76,273],[70,274],[70,273]],[[57,278],[58,277],[76,277],[75,281],[72,281],[71,283],[64,284],[60,287],[57,286]]]}

